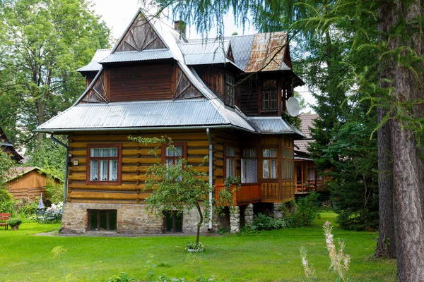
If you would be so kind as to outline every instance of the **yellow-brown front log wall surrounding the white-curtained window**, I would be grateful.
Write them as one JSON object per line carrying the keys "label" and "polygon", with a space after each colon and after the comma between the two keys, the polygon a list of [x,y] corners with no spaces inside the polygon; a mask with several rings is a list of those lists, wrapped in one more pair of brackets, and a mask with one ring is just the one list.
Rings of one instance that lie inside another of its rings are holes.
{"label": "yellow-brown front log wall surrounding the white-curtained window", "polygon": [[[160,137],[166,135],[172,141],[187,144],[187,161],[197,171],[208,173],[208,162],[198,166],[208,155],[208,136],[206,130],[181,133],[84,133],[69,136],[69,154],[71,162],[78,160],[78,165],[69,167],[68,201],[91,203],[128,203],[137,204],[150,195],[151,191],[143,191],[146,171],[149,166],[161,162],[161,150],[158,155],[149,154],[156,145],[142,145],[128,140],[129,135],[143,137]],[[213,137],[213,135],[212,135]],[[90,144],[107,145],[122,144],[122,184],[120,185],[87,185],[87,147]]]}

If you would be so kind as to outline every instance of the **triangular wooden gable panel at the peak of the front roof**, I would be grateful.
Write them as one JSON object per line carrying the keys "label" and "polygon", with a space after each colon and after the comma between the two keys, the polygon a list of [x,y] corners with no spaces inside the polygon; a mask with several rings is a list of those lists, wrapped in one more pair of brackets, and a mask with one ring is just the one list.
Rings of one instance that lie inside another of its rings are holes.
{"label": "triangular wooden gable panel at the peak of the front roof", "polygon": [[146,49],[166,49],[148,20],[139,13],[114,51],[143,51]]}

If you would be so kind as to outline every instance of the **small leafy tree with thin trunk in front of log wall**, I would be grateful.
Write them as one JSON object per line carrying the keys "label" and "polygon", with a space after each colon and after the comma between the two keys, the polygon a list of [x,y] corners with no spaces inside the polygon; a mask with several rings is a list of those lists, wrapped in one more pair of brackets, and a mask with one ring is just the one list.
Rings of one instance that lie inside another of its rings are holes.
{"label": "small leafy tree with thin trunk in front of log wall", "polygon": [[[130,136],[129,140],[143,144],[164,144],[173,152],[177,152],[169,137],[144,138]],[[152,150],[152,154],[155,154],[155,149]],[[206,159],[207,157],[205,157],[204,161]],[[183,157],[180,157],[175,164],[153,164],[146,172],[144,185],[144,190],[153,190],[151,196],[146,198],[146,210],[161,216],[163,212],[172,212],[175,209],[181,213],[184,209],[196,208],[199,214],[196,245],[199,245],[200,227],[209,214],[208,204],[204,200],[207,199],[211,189],[206,180],[206,173],[196,171],[194,166],[188,164]],[[205,203],[205,216],[201,209],[202,202]]]}

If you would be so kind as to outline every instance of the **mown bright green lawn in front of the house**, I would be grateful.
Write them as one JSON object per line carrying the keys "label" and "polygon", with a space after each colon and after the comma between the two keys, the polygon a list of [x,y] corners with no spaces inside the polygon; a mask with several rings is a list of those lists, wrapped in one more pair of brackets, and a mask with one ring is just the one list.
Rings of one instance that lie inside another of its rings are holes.
{"label": "mown bright green lawn in front of the house", "polygon": [[[207,248],[197,254],[184,252],[185,243],[194,236],[34,236],[60,226],[23,223],[18,231],[0,229],[0,280],[106,281],[120,272],[144,279],[146,262],[151,259],[155,274],[186,280],[214,275],[221,281],[305,281],[299,255],[300,246],[305,246],[316,270],[314,281],[336,281],[336,274],[328,271],[321,229],[324,221],[334,219],[335,214],[322,213],[322,219],[310,228],[201,237]],[[352,256],[351,281],[396,281],[394,260],[372,258],[377,233],[343,231],[337,226],[333,233]],[[54,257],[52,249],[57,246],[66,252]]]}

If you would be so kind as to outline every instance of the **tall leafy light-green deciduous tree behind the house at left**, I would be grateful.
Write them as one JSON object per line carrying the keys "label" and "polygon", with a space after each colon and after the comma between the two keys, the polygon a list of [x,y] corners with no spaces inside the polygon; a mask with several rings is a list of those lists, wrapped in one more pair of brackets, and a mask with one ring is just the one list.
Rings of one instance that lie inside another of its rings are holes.
{"label": "tall leafy light-green deciduous tree behind the house at left", "polygon": [[18,126],[28,142],[83,92],[76,69],[110,46],[110,30],[86,0],[4,0],[0,20],[0,120],[12,139]]}

